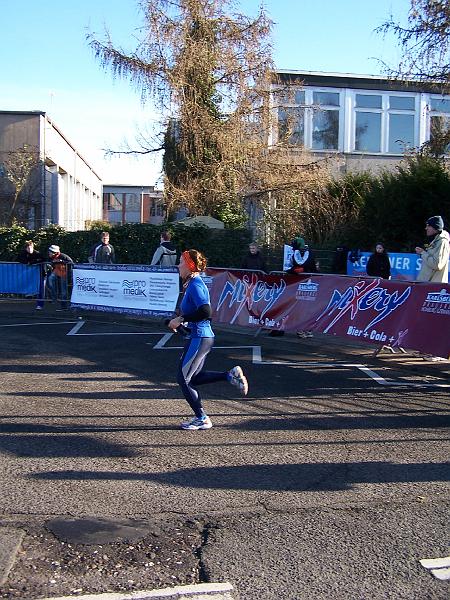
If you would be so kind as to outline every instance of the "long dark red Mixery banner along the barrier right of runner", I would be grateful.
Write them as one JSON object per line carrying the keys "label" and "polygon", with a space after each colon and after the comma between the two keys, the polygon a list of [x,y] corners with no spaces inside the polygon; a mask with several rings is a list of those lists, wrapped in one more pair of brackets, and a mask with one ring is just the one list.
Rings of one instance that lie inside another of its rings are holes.
{"label": "long dark red Mixery banner along the barrier right of runner", "polygon": [[221,323],[450,355],[449,284],[218,269],[208,269],[205,281],[213,318]]}

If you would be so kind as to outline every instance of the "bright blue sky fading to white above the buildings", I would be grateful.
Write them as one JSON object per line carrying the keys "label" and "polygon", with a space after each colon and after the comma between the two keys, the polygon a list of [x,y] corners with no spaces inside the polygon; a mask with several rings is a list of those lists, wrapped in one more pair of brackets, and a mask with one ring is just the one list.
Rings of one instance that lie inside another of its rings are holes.
{"label": "bright blue sky fading to white above the buildings", "polygon": [[[260,0],[235,2],[257,13]],[[265,0],[277,67],[378,74],[376,58],[395,64],[396,40],[374,29],[392,14],[405,22],[410,0]],[[103,148],[133,142],[157,114],[127,81],[104,72],[86,42],[105,28],[116,45],[136,47],[137,0],[0,0],[0,110],[46,111],[97,170],[103,183],[155,185],[160,158],[105,159]]]}

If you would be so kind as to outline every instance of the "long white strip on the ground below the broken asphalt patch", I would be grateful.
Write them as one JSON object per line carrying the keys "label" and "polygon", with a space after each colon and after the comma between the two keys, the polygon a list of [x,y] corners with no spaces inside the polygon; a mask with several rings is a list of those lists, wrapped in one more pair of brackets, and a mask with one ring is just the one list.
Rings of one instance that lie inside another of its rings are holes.
{"label": "long white strip on the ground below the broken asphalt patch", "polygon": [[199,583],[195,585],[177,585],[160,590],[142,590],[130,593],[105,593],[88,594],[84,596],[59,596],[58,598],[43,598],[42,600],[156,600],[168,598],[171,600],[204,600],[215,598],[216,600],[233,600],[231,583]]}

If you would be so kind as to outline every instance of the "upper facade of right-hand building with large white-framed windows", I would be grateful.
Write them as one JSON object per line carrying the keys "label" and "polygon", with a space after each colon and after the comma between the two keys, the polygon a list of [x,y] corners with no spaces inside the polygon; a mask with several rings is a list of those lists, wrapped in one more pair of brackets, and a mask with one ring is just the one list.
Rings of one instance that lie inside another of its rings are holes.
{"label": "upper facade of right-hand building with large white-framed windows", "polygon": [[390,168],[450,126],[450,96],[417,83],[309,71],[277,76],[269,145],[340,154],[343,172]]}

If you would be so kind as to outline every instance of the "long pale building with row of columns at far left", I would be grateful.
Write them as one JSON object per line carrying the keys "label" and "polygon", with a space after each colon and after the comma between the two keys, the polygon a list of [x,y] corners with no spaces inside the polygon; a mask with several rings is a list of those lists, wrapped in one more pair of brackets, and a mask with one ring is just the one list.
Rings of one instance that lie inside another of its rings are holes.
{"label": "long pale building with row of columns at far left", "polygon": [[31,197],[21,217],[26,226],[37,229],[54,223],[77,231],[102,219],[99,175],[50,117],[41,111],[0,111],[0,165],[24,147],[38,156],[30,174]]}

